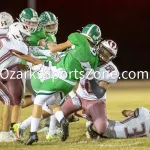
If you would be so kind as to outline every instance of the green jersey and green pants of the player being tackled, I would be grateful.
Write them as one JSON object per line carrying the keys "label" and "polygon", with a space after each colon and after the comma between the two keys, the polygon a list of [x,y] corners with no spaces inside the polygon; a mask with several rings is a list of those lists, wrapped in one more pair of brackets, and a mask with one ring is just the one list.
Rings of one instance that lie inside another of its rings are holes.
{"label": "green jersey and green pants of the player being tackled", "polygon": [[[99,58],[92,53],[85,36],[80,33],[72,33],[69,35],[68,40],[73,46],[62,57],[61,61],[56,64],[58,70],[55,70],[54,75],[58,75],[58,77],[48,77],[45,79],[37,90],[38,95],[52,95],[55,91],[62,91],[66,95],[73,89],[76,82],[87,70],[95,69],[99,65]],[[67,73],[67,78],[63,74],[64,70]],[[51,68],[51,71],[53,71],[53,68]]]}

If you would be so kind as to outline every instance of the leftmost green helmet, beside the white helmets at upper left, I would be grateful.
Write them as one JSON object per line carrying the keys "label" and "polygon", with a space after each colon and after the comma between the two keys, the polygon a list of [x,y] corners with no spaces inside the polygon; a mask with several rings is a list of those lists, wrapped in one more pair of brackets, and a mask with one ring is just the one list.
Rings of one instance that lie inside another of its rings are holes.
{"label": "leftmost green helmet, beside the white helmets at upper left", "polygon": [[38,27],[38,14],[32,8],[26,8],[19,14],[19,21],[26,24],[33,33]]}

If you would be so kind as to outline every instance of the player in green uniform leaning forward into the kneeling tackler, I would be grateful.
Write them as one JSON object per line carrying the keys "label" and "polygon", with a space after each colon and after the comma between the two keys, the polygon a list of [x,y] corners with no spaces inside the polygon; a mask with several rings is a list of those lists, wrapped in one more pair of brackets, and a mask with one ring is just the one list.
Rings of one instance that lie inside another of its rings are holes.
{"label": "player in green uniform leaning forward into the kneeling tackler", "polygon": [[[96,54],[94,46],[101,40],[100,28],[95,24],[89,24],[85,28],[88,29],[87,34],[72,33],[65,43],[58,45],[47,44],[48,48],[53,52],[59,52],[68,47],[72,47],[72,50],[70,50],[67,55],[56,64],[56,67],[54,67],[56,72],[62,73],[66,71],[67,77],[58,76],[57,79],[50,78],[42,83],[34,101],[31,132],[29,139],[26,142],[27,145],[31,145],[38,140],[37,129],[44,102],[57,91],[63,91],[65,95],[68,94],[86,71],[89,71],[91,68],[95,69],[99,64],[99,57]],[[26,59],[27,57],[28,56],[22,56],[20,58]],[[73,73],[70,74],[69,72]],[[52,105],[51,101],[49,101],[48,104]],[[62,141],[65,141],[68,137],[68,121],[64,118],[60,106],[57,104],[53,105],[52,110],[61,124],[63,130]]]}

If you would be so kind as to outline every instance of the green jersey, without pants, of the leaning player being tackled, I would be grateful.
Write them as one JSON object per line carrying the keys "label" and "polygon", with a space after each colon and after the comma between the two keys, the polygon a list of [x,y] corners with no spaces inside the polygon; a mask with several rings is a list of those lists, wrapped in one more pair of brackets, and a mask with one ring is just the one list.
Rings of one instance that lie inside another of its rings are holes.
{"label": "green jersey, without pants, of the leaning player being tackled", "polygon": [[76,81],[85,71],[95,69],[99,64],[99,58],[92,53],[88,40],[82,34],[72,33],[68,40],[73,46],[56,67],[64,68],[69,73],[67,78]]}

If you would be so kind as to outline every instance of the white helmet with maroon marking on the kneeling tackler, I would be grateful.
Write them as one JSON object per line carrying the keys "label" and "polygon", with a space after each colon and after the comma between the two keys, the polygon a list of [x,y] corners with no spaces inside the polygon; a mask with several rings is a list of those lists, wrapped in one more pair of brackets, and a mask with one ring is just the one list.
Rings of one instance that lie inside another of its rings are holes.
{"label": "white helmet with maroon marking on the kneeling tackler", "polygon": [[100,61],[107,63],[117,56],[118,47],[113,40],[103,40],[98,47]]}

